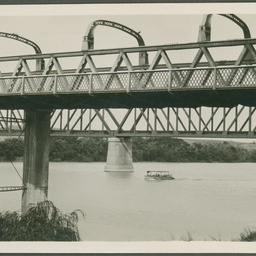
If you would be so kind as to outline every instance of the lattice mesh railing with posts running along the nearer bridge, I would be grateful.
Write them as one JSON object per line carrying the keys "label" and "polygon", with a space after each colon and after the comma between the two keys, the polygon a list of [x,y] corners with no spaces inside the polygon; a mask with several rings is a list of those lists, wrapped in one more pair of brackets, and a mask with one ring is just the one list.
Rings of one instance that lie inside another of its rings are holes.
{"label": "lattice mesh railing with posts running along the nearer bridge", "polygon": [[0,78],[0,95],[255,87],[256,65]]}

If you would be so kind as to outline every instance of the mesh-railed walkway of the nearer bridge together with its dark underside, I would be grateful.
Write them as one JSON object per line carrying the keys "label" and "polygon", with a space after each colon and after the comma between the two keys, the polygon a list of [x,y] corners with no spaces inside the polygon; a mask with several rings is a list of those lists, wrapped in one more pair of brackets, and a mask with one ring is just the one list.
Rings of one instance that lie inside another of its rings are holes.
{"label": "mesh-railed walkway of the nearer bridge together with its dark underside", "polygon": [[0,108],[256,106],[255,68],[2,77]]}

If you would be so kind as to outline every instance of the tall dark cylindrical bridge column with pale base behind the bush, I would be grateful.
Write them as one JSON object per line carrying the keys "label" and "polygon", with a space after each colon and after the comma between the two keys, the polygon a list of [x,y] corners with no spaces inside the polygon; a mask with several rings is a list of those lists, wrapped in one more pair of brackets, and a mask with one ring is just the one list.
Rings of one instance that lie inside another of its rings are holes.
{"label": "tall dark cylindrical bridge column with pale base behind the bush", "polygon": [[50,113],[49,110],[25,111],[23,182],[26,189],[22,193],[23,213],[29,204],[47,199]]}

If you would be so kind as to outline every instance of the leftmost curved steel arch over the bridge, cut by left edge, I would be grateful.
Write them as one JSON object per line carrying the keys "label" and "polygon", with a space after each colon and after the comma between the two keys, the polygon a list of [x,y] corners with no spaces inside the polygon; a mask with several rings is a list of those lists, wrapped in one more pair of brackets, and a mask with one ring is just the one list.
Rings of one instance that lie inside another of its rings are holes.
{"label": "leftmost curved steel arch over the bridge, cut by left edge", "polygon": [[[28,45],[33,47],[36,54],[41,54],[42,53],[40,47],[36,43],[34,43],[33,41],[31,41],[31,40],[29,40],[25,37],[19,36],[17,34],[6,33],[6,32],[0,32],[0,37],[5,37],[5,38],[17,40],[17,41],[22,42],[24,44],[28,44]],[[44,66],[45,66],[44,59],[39,59],[39,60],[36,61],[36,70],[38,70],[38,71],[43,70]]]}

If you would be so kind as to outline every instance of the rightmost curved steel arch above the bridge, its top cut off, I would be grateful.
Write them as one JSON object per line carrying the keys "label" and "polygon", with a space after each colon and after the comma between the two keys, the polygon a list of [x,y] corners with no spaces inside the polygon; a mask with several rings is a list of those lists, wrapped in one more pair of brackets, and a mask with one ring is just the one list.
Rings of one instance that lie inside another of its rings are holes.
{"label": "rightmost curved steel arch above the bridge, its top cut off", "polygon": [[[198,41],[210,41],[211,40],[211,19],[213,14],[207,14],[203,18],[202,25],[199,28]],[[246,23],[237,17],[235,14],[219,14],[223,17],[226,17],[236,23],[239,27],[242,28],[244,33],[244,38],[251,38],[251,33],[246,25]]]}

